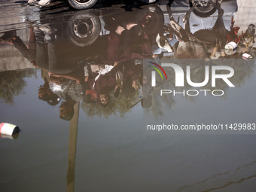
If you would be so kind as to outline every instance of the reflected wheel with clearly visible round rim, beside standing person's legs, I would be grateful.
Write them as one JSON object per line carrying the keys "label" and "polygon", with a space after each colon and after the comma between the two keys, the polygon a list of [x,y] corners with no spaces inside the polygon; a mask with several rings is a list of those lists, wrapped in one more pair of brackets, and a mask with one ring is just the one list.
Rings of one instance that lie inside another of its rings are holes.
{"label": "reflected wheel with clearly visible round rim, beside standing person's legs", "polygon": [[78,12],[69,21],[67,35],[69,41],[79,47],[93,44],[99,36],[100,21],[94,14]]}

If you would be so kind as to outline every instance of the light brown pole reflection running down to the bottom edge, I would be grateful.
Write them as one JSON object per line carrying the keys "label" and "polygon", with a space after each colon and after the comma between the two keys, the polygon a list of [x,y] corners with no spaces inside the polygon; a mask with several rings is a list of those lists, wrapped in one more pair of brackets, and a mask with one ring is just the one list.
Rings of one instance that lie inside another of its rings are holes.
{"label": "light brown pole reflection running down to the bottom edge", "polygon": [[69,125],[69,158],[67,173],[67,192],[73,192],[75,187],[75,154],[78,137],[79,102],[74,105],[74,116]]}

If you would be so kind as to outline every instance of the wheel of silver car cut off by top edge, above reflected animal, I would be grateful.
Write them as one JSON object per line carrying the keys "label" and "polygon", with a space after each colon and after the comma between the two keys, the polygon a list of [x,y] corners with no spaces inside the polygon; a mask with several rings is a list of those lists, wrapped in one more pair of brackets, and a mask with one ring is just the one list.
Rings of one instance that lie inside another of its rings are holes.
{"label": "wheel of silver car cut off by top edge, above reflected animal", "polygon": [[200,4],[197,5],[194,8],[194,14],[196,14],[198,17],[209,17],[212,14],[215,13],[216,8],[213,4],[217,2],[217,0],[205,0],[205,1],[197,1],[197,0],[191,0],[191,5],[194,4],[194,2],[199,2]]}

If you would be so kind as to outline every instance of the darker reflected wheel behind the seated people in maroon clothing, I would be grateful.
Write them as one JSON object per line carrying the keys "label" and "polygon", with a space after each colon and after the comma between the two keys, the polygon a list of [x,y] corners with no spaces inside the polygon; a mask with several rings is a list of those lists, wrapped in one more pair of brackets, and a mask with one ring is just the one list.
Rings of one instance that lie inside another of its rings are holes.
{"label": "darker reflected wheel behind the seated people in maroon clothing", "polygon": [[155,36],[163,29],[163,12],[157,5],[147,6],[136,14],[136,21],[145,27],[145,32],[148,35]]}

